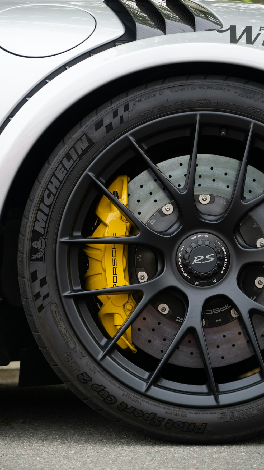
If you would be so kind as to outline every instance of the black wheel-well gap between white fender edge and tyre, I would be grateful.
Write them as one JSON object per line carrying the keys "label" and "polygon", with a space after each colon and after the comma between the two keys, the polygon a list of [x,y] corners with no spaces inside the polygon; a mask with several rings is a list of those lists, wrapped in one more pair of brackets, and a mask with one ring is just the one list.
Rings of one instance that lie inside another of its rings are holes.
{"label": "black wheel-well gap between white fender edge and tyre", "polygon": [[[81,99],[70,105],[66,110],[60,113],[39,135],[38,139],[32,144],[31,148],[23,157],[20,166],[14,175],[8,193],[2,203],[1,221],[6,219],[7,212],[12,211],[15,207],[17,197],[19,195],[20,202],[25,206],[27,198],[30,194],[34,181],[38,177],[42,166],[45,161],[65,137],[65,135],[85,118],[93,110],[97,109],[104,103],[110,101],[113,97],[124,93],[126,90],[143,86],[145,83],[152,82],[159,79],[166,79],[179,75],[221,75],[233,76],[241,78],[242,80],[255,81],[264,84],[264,71],[256,70],[252,67],[247,67],[238,64],[228,63],[212,63],[212,62],[190,62],[190,63],[175,63],[164,66],[151,67],[149,69],[129,73],[128,75],[116,78],[111,83],[106,83],[99,86],[90,93],[84,95]],[[81,112],[80,112],[81,110]],[[54,129],[56,133],[54,135]],[[38,156],[38,158],[36,158]],[[20,181],[26,179],[26,185],[21,184]],[[1,207],[0,207],[1,209]]]}

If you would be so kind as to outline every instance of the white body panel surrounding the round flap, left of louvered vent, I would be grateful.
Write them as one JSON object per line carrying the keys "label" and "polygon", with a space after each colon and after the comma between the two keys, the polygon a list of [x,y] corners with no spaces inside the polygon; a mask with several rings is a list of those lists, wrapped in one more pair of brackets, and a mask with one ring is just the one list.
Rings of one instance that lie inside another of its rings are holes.
{"label": "white body panel surrounding the round flap, left of louvered vent", "polygon": [[[21,4],[21,2],[12,2],[13,4]],[[43,1],[28,2],[31,4],[42,4]],[[54,4],[52,0],[45,1],[46,4]],[[94,47],[101,46],[119,38],[124,33],[124,26],[113,11],[106,6],[104,2],[56,2],[57,5],[71,5],[74,3],[76,7],[81,5],[93,16],[96,21],[96,28],[91,36],[64,53],[49,57],[22,57],[20,55],[10,54],[0,48],[0,87],[4,90],[1,96],[0,107],[0,125],[10,115],[10,111],[26,97],[30,90],[36,86],[43,78],[50,75],[60,66],[67,64],[72,58],[83,55]],[[1,11],[3,11],[5,2],[1,2]],[[6,5],[10,5],[10,1]],[[89,8],[88,8],[89,4]],[[1,12],[0,12],[1,18]],[[107,28],[106,28],[107,24]],[[1,25],[1,22],[0,22]],[[19,40],[20,31],[17,31]],[[36,39],[38,41],[38,39]],[[0,43],[1,47],[1,43]],[[65,69],[66,70],[66,69]],[[12,113],[11,113],[12,114]]]}

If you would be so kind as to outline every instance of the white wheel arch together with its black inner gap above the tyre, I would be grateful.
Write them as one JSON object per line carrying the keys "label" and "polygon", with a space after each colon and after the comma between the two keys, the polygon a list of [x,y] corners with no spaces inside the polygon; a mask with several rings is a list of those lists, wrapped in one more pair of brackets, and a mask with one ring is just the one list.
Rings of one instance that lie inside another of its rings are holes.
{"label": "white wheel arch together with its black inner gap above the tyre", "polygon": [[0,134],[0,173],[5,175],[0,184],[0,214],[24,165],[30,162],[35,179],[43,158],[80,118],[126,90],[160,78],[215,73],[264,83],[262,50],[219,43],[222,38],[216,31],[207,31],[134,41],[84,59],[53,78]]}

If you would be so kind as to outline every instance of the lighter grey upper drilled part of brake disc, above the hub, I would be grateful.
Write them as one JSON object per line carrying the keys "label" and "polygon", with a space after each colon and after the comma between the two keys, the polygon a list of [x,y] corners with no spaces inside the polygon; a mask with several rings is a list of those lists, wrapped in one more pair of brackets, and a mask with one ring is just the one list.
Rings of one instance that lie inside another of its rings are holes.
{"label": "lighter grey upper drilled part of brake disc, above the hub", "polygon": [[[176,188],[183,188],[188,171],[189,155],[175,157],[157,166],[171,179]],[[234,183],[240,162],[234,158],[220,155],[197,155],[195,194],[209,194],[231,200]],[[252,166],[248,166],[244,196],[255,197],[264,190],[264,174]],[[165,204],[171,197],[157,181],[154,173],[148,169],[140,173],[128,183],[128,208],[144,223]]]}

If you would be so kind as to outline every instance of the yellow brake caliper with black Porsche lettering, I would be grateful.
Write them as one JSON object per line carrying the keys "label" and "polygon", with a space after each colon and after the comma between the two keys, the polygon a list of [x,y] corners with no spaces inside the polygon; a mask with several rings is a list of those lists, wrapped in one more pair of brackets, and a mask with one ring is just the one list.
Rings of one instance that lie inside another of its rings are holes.
{"label": "yellow brake caliper with black Porsche lettering", "polygon": [[[128,181],[129,178],[126,175],[119,176],[108,188],[126,207],[128,207]],[[100,225],[91,237],[118,237],[129,234],[129,222],[106,196],[100,199],[96,214]],[[89,259],[89,269],[84,276],[87,290],[129,284],[128,245],[87,243],[84,251]],[[99,321],[110,337],[113,337],[133,310],[136,302],[128,294],[101,295],[98,299],[102,302],[98,313]],[[122,349],[130,348],[132,352],[136,352],[132,344],[131,327],[121,336],[117,344]]]}

